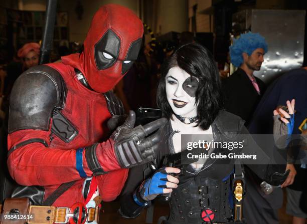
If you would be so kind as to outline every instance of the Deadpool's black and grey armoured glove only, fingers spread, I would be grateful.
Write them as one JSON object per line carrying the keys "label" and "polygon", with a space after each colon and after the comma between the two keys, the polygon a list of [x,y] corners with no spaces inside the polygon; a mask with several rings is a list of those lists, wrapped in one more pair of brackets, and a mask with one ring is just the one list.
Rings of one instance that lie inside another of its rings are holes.
{"label": "Deadpool's black and grey armoured glove only, fingers spread", "polygon": [[133,128],[134,123],[135,113],[130,111],[124,124],[117,127],[110,137],[114,141],[115,155],[122,168],[130,168],[155,159],[162,136],[159,130],[151,136],[148,135],[161,129],[167,123],[167,119],[160,118]]}

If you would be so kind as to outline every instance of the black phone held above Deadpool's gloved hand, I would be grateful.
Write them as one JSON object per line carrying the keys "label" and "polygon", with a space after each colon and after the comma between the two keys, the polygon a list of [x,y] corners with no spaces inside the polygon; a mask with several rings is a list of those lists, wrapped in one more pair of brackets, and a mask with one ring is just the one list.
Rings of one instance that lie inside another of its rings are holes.
{"label": "black phone held above Deadpool's gloved hand", "polygon": [[157,108],[140,107],[136,111],[135,126],[144,125],[162,117],[162,111]]}

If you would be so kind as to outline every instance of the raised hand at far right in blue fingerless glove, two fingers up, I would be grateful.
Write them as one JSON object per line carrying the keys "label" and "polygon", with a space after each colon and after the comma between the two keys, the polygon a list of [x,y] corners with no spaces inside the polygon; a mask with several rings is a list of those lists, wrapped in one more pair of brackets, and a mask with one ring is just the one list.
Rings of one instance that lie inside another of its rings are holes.
{"label": "raised hand at far right in blue fingerless glove, two fingers up", "polygon": [[294,127],[294,99],[291,101],[286,102],[288,111],[284,111],[283,109],[279,109],[273,111],[273,119],[274,119],[274,127],[273,127],[273,134],[275,144],[278,148],[284,148],[288,145],[293,127]]}

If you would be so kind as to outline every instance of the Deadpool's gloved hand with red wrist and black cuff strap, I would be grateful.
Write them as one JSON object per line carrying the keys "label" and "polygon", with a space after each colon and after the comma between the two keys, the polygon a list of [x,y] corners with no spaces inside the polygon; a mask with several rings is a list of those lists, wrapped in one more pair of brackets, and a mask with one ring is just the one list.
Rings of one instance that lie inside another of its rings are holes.
{"label": "Deadpool's gloved hand with red wrist and black cuff strap", "polygon": [[[117,118],[115,117],[111,123],[117,123]],[[156,158],[162,137],[158,129],[163,128],[167,119],[160,118],[144,126],[139,125],[133,128],[134,123],[135,113],[130,111],[126,121],[116,128],[107,141],[95,143],[85,148],[86,164],[93,172],[93,176],[119,168],[130,168]],[[157,132],[152,134],[156,130]],[[83,149],[80,150],[82,152]],[[79,153],[78,155],[82,154]],[[82,162],[82,157],[79,156],[78,158],[78,161]],[[81,169],[82,166],[79,165],[79,168]]]}

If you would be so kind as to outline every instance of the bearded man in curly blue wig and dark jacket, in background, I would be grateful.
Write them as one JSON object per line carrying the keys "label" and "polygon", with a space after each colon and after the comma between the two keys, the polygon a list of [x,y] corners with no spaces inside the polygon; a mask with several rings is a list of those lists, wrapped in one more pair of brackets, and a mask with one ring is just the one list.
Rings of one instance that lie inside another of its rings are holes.
{"label": "bearded man in curly blue wig and dark jacket, in background", "polygon": [[242,34],[230,46],[231,63],[238,69],[224,79],[225,109],[245,120],[248,126],[251,116],[257,107],[265,84],[253,76],[259,71],[263,56],[267,52],[267,44],[260,34]]}

